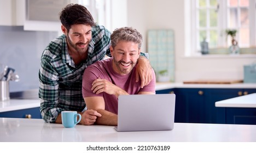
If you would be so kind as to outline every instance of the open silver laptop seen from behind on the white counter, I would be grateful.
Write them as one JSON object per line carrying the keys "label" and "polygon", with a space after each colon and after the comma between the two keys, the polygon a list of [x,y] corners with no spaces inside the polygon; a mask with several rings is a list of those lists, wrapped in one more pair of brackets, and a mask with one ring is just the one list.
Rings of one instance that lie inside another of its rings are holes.
{"label": "open silver laptop seen from behind on the white counter", "polygon": [[121,95],[117,131],[172,130],[175,95]]}

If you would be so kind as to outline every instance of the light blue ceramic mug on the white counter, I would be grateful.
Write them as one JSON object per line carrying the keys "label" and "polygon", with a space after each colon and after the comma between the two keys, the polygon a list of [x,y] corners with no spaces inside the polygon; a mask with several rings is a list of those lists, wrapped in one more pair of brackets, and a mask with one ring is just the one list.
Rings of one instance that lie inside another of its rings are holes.
{"label": "light blue ceramic mug on the white counter", "polygon": [[[79,116],[78,121],[77,116]],[[82,116],[77,114],[77,111],[61,111],[61,120],[64,127],[74,127],[81,119]]]}

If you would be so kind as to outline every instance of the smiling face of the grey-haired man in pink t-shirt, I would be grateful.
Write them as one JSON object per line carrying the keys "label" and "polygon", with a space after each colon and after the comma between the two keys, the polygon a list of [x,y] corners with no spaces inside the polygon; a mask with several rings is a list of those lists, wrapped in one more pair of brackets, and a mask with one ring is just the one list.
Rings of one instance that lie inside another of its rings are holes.
{"label": "smiling face of the grey-haired man in pink t-shirt", "polygon": [[141,52],[138,44],[124,40],[120,40],[114,48],[110,46],[110,51],[113,57],[113,69],[118,74],[130,73]]}

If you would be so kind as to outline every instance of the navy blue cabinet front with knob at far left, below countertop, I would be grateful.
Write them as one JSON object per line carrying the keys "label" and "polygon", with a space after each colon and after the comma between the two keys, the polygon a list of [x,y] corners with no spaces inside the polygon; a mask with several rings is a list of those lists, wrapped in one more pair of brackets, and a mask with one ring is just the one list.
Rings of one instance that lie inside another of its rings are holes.
{"label": "navy blue cabinet front with knob at far left, below countertop", "polygon": [[0,117],[42,119],[40,107],[6,111],[0,113]]}

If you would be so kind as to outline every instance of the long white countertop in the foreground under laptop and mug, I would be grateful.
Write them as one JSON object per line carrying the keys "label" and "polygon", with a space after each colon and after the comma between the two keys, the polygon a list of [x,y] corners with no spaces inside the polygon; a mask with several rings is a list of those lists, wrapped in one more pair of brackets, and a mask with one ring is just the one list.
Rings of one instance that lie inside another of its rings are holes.
{"label": "long white countertop in the foreground under laptop and mug", "polygon": [[0,136],[0,142],[256,142],[256,125],[174,123],[172,131],[117,132],[113,126],[0,118]]}

